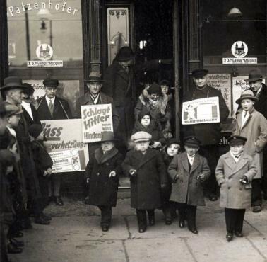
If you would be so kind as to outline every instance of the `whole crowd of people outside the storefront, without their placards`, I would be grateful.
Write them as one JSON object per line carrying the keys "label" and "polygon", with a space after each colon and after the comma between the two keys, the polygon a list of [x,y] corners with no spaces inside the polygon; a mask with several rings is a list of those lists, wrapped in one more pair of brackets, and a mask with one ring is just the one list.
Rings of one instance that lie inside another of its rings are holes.
{"label": "whole crowd of people outside the storefront, without their placards", "polygon": [[[108,231],[112,207],[117,203],[119,176],[129,176],[131,207],[136,209],[138,232],[155,224],[155,209],[162,209],[165,224],[179,212],[179,227],[197,234],[197,206],[220,195],[225,208],[226,239],[242,237],[245,210],[261,211],[262,194],[267,200],[266,143],[267,87],[263,76],[252,70],[251,88],[242,92],[238,103],[230,150],[220,156],[220,123],[182,125],[182,139],[174,138],[173,95],[170,82],[144,83],[134,88],[134,55],[129,47],[119,50],[102,79],[91,72],[85,79],[86,92],[71,113],[68,101],[57,96],[57,79],[45,79],[45,96],[37,101],[34,89],[16,76],[1,86],[0,178],[1,178],[1,261],[7,253],[23,251],[23,229],[50,224],[44,213],[50,202],[64,205],[62,175],[52,172],[53,161],[41,120],[81,118],[81,106],[111,104],[113,132],[102,132],[100,142],[89,147],[85,169],[87,203],[101,211],[100,225]],[[163,60],[148,63],[157,67]],[[146,67],[148,66],[146,65]],[[192,72],[194,86],[184,93],[183,102],[218,97],[220,122],[229,115],[222,93],[208,86],[208,70]],[[179,119],[179,116],[176,116]],[[265,162],[264,162],[265,160]],[[148,222],[147,215],[148,214]]]}

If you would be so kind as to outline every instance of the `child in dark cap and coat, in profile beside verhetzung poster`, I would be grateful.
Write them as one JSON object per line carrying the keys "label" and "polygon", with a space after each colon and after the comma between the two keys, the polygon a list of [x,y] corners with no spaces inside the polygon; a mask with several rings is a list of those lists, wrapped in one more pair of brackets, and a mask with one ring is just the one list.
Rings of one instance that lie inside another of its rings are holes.
{"label": "child in dark cap and coat, in profile beside verhetzung poster", "polygon": [[42,207],[40,207],[40,217],[35,218],[35,222],[38,224],[49,224],[51,217],[45,215],[42,210],[45,209],[45,206],[48,203],[48,178],[52,175],[52,166],[53,161],[49,154],[47,153],[47,149],[44,145],[44,131],[42,130],[42,125],[32,124],[29,127],[29,135],[30,135],[30,146],[32,148],[32,156],[35,161],[35,170],[37,173],[37,177],[39,179],[40,191],[42,194]]}

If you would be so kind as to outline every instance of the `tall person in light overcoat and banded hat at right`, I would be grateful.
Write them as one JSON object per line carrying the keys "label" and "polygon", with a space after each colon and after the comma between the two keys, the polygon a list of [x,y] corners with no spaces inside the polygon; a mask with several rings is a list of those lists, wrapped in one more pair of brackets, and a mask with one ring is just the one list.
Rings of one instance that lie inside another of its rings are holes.
{"label": "tall person in light overcoat and banded hat at right", "polygon": [[254,93],[247,89],[241,93],[238,103],[242,109],[237,112],[233,135],[247,138],[244,152],[254,159],[257,173],[252,180],[251,205],[253,212],[261,211],[261,177],[263,176],[263,148],[267,143],[267,120],[254,108],[259,101]]}

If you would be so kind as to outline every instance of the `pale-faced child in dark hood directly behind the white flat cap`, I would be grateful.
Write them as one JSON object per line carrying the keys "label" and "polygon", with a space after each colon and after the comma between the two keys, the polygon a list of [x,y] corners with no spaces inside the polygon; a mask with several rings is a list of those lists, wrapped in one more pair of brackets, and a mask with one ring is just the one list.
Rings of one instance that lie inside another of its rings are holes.
{"label": "pale-faced child in dark hood directly behind the white flat cap", "polygon": [[133,127],[133,134],[138,131],[148,132],[151,135],[150,147],[160,149],[165,144],[162,132],[160,132],[158,125],[148,112],[141,112],[138,115],[138,121],[136,121]]}

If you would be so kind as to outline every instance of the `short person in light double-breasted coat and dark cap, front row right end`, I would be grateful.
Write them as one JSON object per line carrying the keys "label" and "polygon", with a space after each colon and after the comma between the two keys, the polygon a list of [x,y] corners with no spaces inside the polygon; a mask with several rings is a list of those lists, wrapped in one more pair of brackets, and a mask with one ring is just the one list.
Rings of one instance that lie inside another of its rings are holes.
{"label": "short person in light double-breasted coat and dark cap, front row right end", "polygon": [[251,156],[243,152],[246,141],[246,137],[232,135],[228,139],[230,151],[220,156],[215,170],[220,206],[225,207],[227,241],[232,240],[234,233],[243,237],[244,214],[251,206],[251,181],[256,175],[256,166]]}

